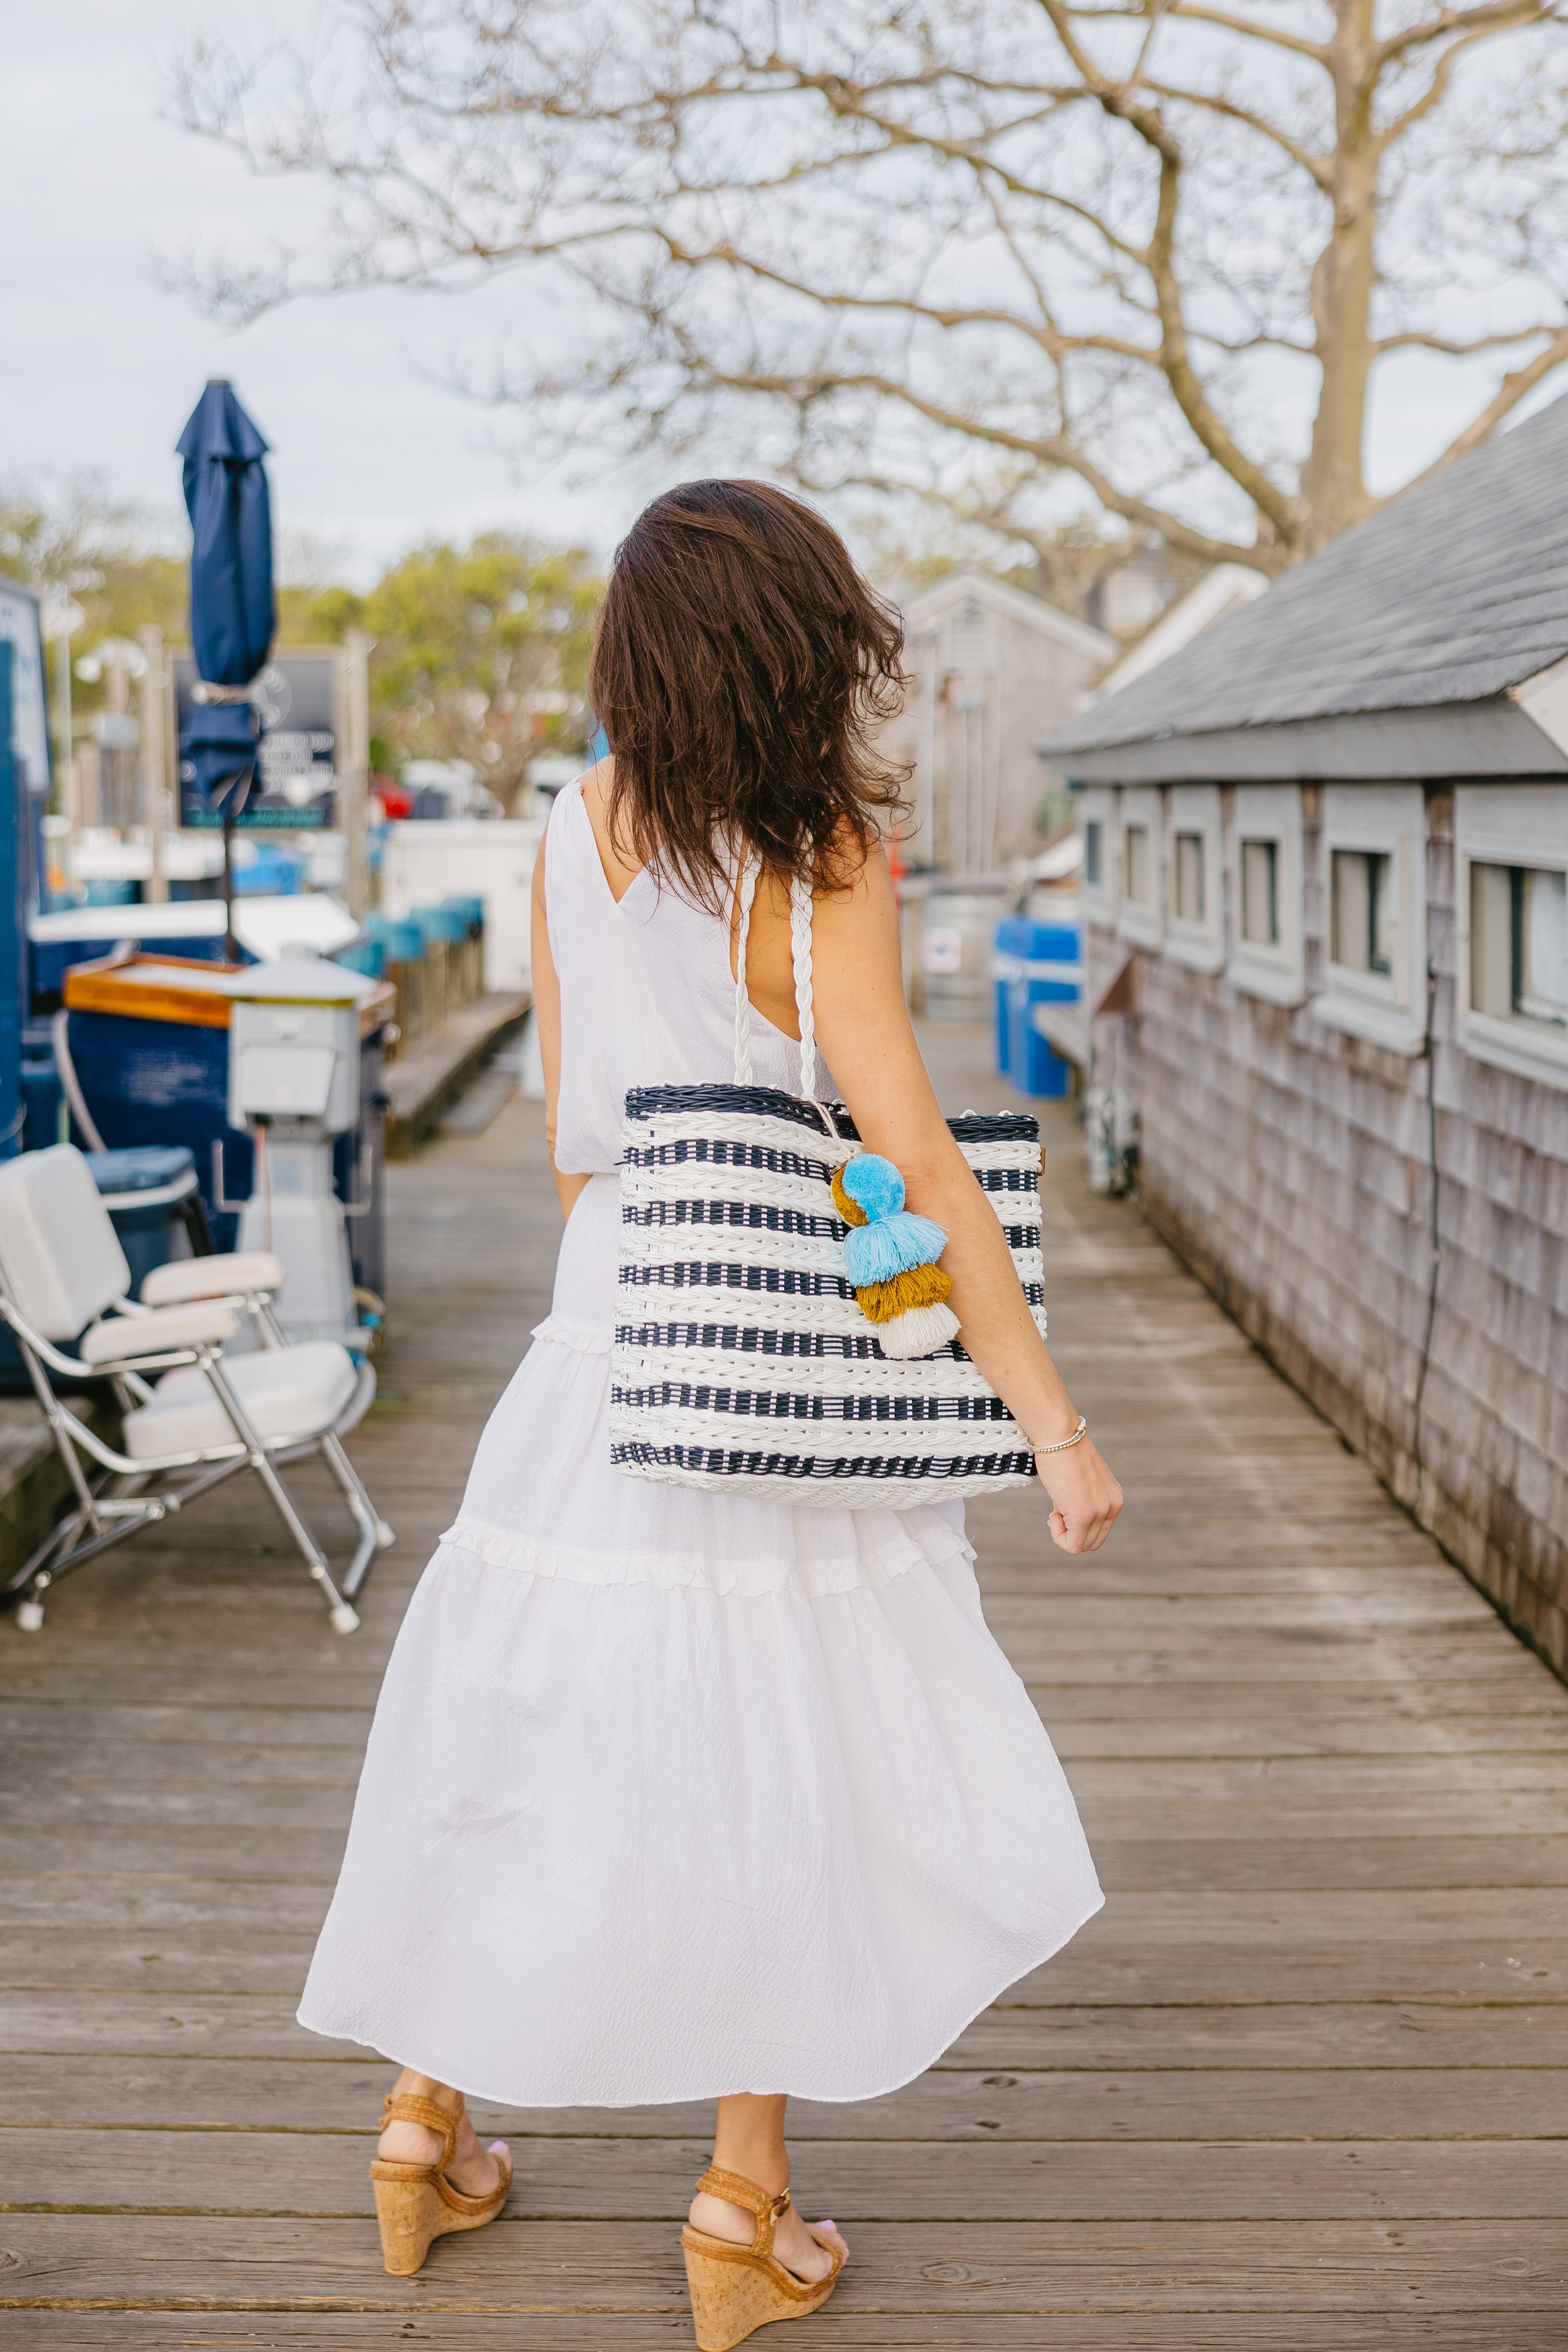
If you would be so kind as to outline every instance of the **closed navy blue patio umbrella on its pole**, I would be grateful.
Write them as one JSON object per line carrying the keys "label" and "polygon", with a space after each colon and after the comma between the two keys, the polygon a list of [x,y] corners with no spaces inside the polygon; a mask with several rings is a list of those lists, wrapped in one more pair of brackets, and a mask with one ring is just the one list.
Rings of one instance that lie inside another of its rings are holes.
{"label": "closed navy blue patio umbrella on its pole", "polygon": [[[207,386],[179,437],[190,515],[190,649],[197,703],[181,760],[223,809],[226,953],[235,948],[235,816],[256,774],[256,706],[242,691],[273,652],[273,506],[266,442],[228,383]],[[207,689],[202,694],[202,689]],[[216,691],[212,691],[216,689]]]}

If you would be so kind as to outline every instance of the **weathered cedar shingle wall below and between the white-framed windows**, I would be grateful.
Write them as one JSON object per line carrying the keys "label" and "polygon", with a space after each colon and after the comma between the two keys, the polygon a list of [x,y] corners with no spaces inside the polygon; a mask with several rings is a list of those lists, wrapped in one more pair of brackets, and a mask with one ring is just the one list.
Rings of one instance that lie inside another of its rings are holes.
{"label": "weathered cedar shingle wall below and between the white-framed windows", "polygon": [[[1307,790],[1307,985],[1321,971]],[[1143,1115],[1140,1200],[1253,1341],[1568,1675],[1568,1091],[1453,1042],[1453,797],[1427,795],[1439,1305],[1427,1324],[1427,1061],[1140,957],[1100,1075]],[[1121,960],[1091,929],[1091,995]]]}

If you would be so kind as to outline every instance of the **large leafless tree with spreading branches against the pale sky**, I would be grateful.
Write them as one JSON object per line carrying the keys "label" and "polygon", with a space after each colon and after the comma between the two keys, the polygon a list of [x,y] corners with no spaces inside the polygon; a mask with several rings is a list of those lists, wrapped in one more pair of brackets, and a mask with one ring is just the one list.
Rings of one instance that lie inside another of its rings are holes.
{"label": "large leafless tree with spreading branches against the pale sky", "polygon": [[536,440],[733,435],[1023,546],[1077,480],[1274,572],[1380,503],[1392,355],[1521,355],[1439,463],[1568,360],[1568,0],[1425,7],[343,0],[324,59],[186,56],[188,127],[322,193],[200,287],[249,318],[522,273]]}

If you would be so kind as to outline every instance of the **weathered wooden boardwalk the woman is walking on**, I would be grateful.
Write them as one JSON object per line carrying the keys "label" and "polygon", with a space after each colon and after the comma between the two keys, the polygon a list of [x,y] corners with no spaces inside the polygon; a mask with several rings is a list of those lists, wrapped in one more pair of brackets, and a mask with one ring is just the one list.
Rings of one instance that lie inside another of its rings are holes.
{"label": "weathered wooden boardwalk the woman is walking on", "polygon": [[[978,1054],[933,1040],[952,1108],[999,1098]],[[853,2267],[790,2352],[1561,2352],[1568,1691],[1051,1141],[1053,1338],[1131,1501],[1084,1562],[1013,1498],[971,1526],[1110,1903],[922,2082],[797,2110]],[[400,1543],[364,1630],[327,1632],[235,1486],[40,1639],[0,1625],[0,2338],[28,2352],[691,2340],[701,2110],[484,2117],[508,2218],[395,2281],[386,2067],[294,2025],[381,1663],[545,1308],[538,1110],[390,1197],[355,1454]]]}

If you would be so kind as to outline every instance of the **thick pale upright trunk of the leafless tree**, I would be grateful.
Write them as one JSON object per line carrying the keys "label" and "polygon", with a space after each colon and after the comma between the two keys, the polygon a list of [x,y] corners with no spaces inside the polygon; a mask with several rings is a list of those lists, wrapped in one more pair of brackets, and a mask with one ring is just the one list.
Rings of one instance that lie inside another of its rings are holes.
{"label": "thick pale upright trunk of the leafless tree", "polygon": [[1378,169],[1382,141],[1373,122],[1373,0],[1338,0],[1328,42],[1335,158],[1333,226],[1312,270],[1312,325],[1321,365],[1312,449],[1300,499],[1307,515],[1300,555],[1328,546],[1361,522],[1366,494],[1366,395],[1373,367],[1371,318],[1378,282]]}

